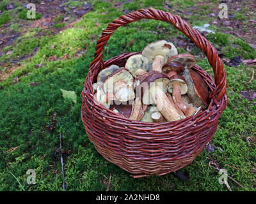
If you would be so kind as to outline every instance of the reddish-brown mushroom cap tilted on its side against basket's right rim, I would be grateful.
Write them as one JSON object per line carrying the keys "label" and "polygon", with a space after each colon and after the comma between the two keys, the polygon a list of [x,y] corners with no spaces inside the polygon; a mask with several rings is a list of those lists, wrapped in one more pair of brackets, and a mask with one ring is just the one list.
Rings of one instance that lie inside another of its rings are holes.
{"label": "reddish-brown mushroom cap tilted on its side against basket's right rim", "polygon": [[185,67],[182,77],[186,79],[188,85],[188,97],[196,107],[202,106],[203,109],[207,108],[209,91],[203,78],[193,71]]}

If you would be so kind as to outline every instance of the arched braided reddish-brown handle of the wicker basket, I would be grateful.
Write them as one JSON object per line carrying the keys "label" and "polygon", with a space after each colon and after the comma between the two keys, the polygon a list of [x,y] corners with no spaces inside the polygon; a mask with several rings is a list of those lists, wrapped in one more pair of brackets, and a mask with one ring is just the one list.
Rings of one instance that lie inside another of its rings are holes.
{"label": "arched braided reddish-brown handle of the wicker basket", "polygon": [[204,36],[202,36],[197,30],[194,30],[186,21],[182,20],[178,15],[172,15],[168,12],[155,10],[152,8],[149,9],[140,9],[134,11],[128,15],[122,15],[118,19],[113,20],[108,27],[102,31],[102,36],[97,41],[95,47],[94,59],[90,63],[90,71],[95,71],[97,66],[102,66],[104,68],[104,62],[102,61],[102,53],[104,50],[104,45],[108,42],[111,34],[115,32],[118,27],[122,25],[127,25],[131,22],[141,20],[142,18],[161,20],[163,22],[171,23],[175,28],[184,33],[195,45],[207,55],[209,64],[211,64],[214,71],[214,80],[216,84],[216,89],[211,92],[210,98],[215,97],[217,101],[225,96],[227,82],[225,78],[225,70],[223,68],[223,63],[218,56],[216,50],[212,45],[207,41]]}

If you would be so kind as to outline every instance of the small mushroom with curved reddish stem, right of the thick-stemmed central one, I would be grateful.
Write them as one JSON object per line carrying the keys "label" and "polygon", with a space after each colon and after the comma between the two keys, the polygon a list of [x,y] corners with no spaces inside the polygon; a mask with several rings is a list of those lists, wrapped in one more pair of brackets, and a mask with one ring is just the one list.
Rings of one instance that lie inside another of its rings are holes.
{"label": "small mushroom with curved reddish stem, right of the thick-stemmed central one", "polygon": [[195,113],[195,108],[184,103],[180,96],[188,92],[188,86],[184,77],[180,75],[174,75],[171,77],[170,83],[168,84],[168,91],[172,93],[173,101],[187,117]]}

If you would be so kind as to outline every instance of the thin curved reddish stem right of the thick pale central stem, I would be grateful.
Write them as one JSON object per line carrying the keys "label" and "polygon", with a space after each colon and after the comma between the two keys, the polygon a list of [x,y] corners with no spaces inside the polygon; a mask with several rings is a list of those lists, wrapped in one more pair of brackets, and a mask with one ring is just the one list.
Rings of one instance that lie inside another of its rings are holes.
{"label": "thin curved reddish stem right of the thick pale central stem", "polygon": [[190,115],[193,115],[193,113],[195,113],[195,108],[186,105],[186,103],[184,103],[181,99],[180,96],[180,85],[179,84],[173,84],[173,88],[172,88],[172,98],[173,101],[179,106],[180,110],[182,110],[182,112],[184,112],[184,114],[189,117]]}

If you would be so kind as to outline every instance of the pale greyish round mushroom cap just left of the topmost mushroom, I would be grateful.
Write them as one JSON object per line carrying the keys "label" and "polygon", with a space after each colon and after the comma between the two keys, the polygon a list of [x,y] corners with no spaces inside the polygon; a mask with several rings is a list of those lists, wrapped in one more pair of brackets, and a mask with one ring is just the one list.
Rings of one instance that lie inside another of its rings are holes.
{"label": "pale greyish round mushroom cap just left of the topmost mushroom", "polygon": [[141,54],[136,54],[136,55],[132,55],[127,59],[127,62],[125,63],[125,68],[131,71],[132,75],[136,77],[137,76],[136,71],[138,69],[149,71],[150,64],[148,62],[147,57]]}

